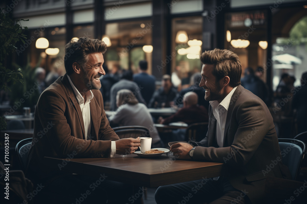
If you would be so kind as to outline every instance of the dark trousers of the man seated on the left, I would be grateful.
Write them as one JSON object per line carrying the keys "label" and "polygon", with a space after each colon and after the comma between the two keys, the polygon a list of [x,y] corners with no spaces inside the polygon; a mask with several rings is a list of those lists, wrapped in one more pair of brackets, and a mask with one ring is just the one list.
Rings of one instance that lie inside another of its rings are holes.
{"label": "dark trousers of the man seated on the left", "polygon": [[71,174],[42,187],[33,200],[50,204],[125,204],[140,203],[142,195],[142,187],[107,180],[104,174],[95,177]]}

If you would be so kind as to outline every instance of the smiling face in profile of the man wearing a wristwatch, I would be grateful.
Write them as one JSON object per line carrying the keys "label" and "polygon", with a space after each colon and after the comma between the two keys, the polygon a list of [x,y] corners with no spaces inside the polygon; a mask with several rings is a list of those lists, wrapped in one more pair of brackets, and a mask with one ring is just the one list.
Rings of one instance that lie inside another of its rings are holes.
{"label": "smiling face in profile of the man wearing a wristwatch", "polygon": [[213,65],[205,64],[201,69],[200,87],[206,90],[206,101],[218,101],[219,103],[224,99],[221,80],[216,81],[216,77],[212,74]]}

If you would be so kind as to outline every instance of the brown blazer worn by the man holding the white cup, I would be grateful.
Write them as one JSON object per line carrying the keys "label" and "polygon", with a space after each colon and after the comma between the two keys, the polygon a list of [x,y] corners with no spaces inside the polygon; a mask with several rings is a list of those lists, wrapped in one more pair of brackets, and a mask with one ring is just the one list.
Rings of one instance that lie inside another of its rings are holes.
{"label": "brown blazer worn by the man holding the white cup", "polygon": [[[110,127],[99,90],[92,90],[90,102],[91,139],[84,138],[82,112],[68,77],[59,77],[38,99],[34,116],[32,146],[26,175],[34,183],[63,176],[65,164],[49,167],[44,157],[93,158],[110,157],[111,140],[119,139]],[[48,179],[47,179],[48,178]]]}

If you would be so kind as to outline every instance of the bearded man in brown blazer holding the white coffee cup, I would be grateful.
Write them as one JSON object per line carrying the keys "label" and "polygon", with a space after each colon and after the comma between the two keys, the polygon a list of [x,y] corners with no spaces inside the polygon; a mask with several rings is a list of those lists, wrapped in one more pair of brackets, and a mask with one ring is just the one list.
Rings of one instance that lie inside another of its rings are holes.
{"label": "bearded man in brown blazer holding the white coffee cup", "polygon": [[127,190],[131,187],[106,180],[103,172],[98,177],[92,177],[91,172],[88,176],[65,173],[67,163],[50,166],[44,160],[46,156],[114,157],[115,153],[131,154],[140,146],[139,139],[119,139],[103,109],[99,77],[105,74],[102,65],[106,49],[98,39],[70,41],[65,46],[66,74],[52,83],[37,102],[26,172],[34,186],[42,186],[34,197],[36,202],[95,203],[110,197],[127,200],[132,195]]}

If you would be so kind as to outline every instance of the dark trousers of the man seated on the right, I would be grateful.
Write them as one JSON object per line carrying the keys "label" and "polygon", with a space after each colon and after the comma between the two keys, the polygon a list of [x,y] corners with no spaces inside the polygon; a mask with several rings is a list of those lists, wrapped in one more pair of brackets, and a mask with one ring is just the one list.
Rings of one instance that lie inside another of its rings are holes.
{"label": "dark trousers of the man seated on the right", "polygon": [[218,180],[206,179],[185,183],[160,186],[155,199],[157,204],[174,203],[250,203],[247,191],[239,191],[231,186],[228,180],[220,177]]}

